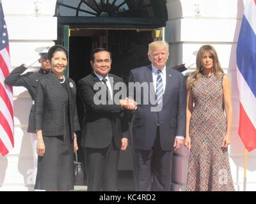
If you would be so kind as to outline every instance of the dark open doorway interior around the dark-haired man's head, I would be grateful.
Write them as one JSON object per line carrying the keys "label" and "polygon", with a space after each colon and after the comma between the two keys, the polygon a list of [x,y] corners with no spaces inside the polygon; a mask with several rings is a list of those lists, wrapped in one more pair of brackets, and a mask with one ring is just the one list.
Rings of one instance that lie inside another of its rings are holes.
{"label": "dark open doorway interior around the dark-haired man's head", "polygon": [[[112,54],[111,73],[127,82],[131,69],[150,63],[148,44],[152,42],[151,31],[136,30],[82,30],[70,36],[69,77],[75,81],[92,72],[90,53],[93,48],[104,47]],[[78,35],[91,36],[78,36]]]}

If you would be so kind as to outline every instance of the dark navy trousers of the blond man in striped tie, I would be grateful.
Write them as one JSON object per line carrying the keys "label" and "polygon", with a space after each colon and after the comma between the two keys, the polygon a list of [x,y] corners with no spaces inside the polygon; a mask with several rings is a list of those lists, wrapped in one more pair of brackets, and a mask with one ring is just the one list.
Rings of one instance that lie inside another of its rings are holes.
{"label": "dark navy trousers of the blond man in striped tie", "polygon": [[133,149],[133,177],[136,191],[170,191],[173,150],[161,149],[159,129],[150,150]]}

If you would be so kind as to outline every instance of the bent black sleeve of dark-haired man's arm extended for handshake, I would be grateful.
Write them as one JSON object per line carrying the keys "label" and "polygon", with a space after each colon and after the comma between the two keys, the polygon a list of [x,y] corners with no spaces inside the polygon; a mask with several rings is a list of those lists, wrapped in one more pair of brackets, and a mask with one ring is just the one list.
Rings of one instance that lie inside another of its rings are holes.
{"label": "bent black sleeve of dark-haired man's arm extended for handshake", "polygon": [[93,112],[120,112],[123,108],[120,105],[95,105],[93,101],[93,97],[95,92],[93,91],[92,85],[87,82],[83,82],[80,80],[78,82],[78,89],[79,89],[79,96],[81,101],[83,101],[84,105],[86,106],[86,110],[93,111]]}

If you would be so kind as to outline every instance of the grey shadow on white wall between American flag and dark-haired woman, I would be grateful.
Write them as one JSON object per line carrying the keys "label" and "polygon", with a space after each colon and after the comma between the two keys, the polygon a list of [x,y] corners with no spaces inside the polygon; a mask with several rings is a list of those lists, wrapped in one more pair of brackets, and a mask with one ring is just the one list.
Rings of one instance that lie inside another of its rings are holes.
{"label": "grey shadow on white wall between American flag and dark-haired woman", "polygon": [[[28,96],[28,91],[24,91],[19,94],[18,99],[13,101],[14,108],[20,108],[20,110],[14,110],[15,117],[17,117],[17,119],[20,121],[20,124],[28,124],[29,113],[32,105],[31,99],[24,100],[25,96]],[[17,163],[17,168],[20,174],[24,177],[24,184],[28,187],[29,190],[33,188],[33,186],[31,186],[33,184],[33,151],[30,135],[27,133],[27,128],[27,126],[20,128],[23,131],[23,136],[22,141],[20,142],[19,161]]]}

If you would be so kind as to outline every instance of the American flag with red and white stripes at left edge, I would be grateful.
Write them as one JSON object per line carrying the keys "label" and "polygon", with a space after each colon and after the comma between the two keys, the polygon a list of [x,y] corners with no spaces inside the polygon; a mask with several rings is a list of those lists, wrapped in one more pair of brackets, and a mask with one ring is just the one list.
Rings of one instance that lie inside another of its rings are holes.
{"label": "American flag with red and white stripes at left edge", "polygon": [[13,93],[12,87],[4,84],[4,79],[10,74],[10,68],[8,33],[0,1],[0,153],[3,156],[14,147]]}

